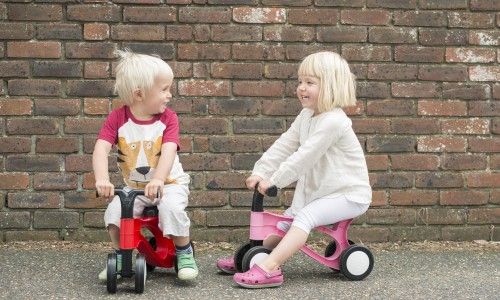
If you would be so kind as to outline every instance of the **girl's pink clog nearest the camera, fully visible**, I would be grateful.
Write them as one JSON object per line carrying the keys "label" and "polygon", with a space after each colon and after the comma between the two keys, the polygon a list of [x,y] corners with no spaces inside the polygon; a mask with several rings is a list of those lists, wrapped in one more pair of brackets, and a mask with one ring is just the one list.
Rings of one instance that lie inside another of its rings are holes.
{"label": "girl's pink clog nearest the camera, fully visible", "polygon": [[240,286],[250,289],[277,287],[283,283],[281,270],[267,273],[257,264],[245,273],[236,273],[233,278]]}

